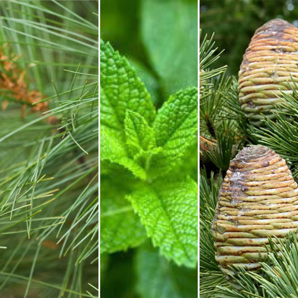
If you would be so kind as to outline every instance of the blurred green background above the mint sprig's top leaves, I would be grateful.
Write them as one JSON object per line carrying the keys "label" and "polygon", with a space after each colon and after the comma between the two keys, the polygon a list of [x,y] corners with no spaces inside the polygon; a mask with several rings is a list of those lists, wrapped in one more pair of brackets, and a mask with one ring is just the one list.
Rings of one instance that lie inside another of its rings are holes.
{"label": "blurred green background above the mint sprig's top leaves", "polygon": [[100,35],[126,56],[160,107],[197,86],[197,0],[102,0]]}

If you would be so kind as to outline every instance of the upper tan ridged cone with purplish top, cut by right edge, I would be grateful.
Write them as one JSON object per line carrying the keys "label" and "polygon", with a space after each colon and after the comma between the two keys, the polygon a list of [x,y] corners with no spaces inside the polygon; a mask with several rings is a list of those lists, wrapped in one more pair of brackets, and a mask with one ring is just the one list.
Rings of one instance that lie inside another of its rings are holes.
{"label": "upper tan ridged cone with purplish top, cut by right edge", "polygon": [[298,83],[298,29],[285,20],[271,20],[255,31],[239,71],[239,100],[252,124],[261,124],[261,113],[275,118],[279,89],[292,94],[288,84],[295,88],[290,75]]}

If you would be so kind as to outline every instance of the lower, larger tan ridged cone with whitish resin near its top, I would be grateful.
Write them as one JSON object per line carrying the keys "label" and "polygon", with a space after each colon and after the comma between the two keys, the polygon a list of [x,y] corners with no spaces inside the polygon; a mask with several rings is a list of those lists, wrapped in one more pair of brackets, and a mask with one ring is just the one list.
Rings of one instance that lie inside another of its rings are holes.
{"label": "lower, larger tan ridged cone with whitish resin near its top", "polygon": [[268,236],[297,227],[298,187],[286,161],[264,146],[243,148],[230,162],[212,224],[219,268],[227,279],[229,266],[258,270]]}

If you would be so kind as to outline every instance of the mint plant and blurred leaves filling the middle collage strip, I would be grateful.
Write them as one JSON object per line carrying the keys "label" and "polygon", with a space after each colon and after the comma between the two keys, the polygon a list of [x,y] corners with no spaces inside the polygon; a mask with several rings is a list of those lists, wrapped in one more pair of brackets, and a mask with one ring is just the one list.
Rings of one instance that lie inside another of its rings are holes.
{"label": "mint plant and blurred leaves filling the middle collage strip", "polygon": [[[188,37],[170,32],[196,31],[190,10],[196,4],[139,4],[148,60],[138,61],[142,48],[125,58],[101,41],[101,256],[109,255],[101,296],[191,297],[197,288],[196,279],[186,282],[196,277],[197,264],[197,34],[190,54]],[[148,25],[157,13],[168,22],[157,22],[153,32]],[[165,37],[171,39],[166,47]]]}

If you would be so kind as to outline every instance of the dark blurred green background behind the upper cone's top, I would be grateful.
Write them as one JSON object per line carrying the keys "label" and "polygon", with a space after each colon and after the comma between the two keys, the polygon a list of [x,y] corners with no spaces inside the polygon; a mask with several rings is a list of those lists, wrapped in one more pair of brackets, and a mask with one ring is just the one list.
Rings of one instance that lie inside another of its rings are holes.
{"label": "dark blurred green background behind the upper cone's top", "polygon": [[228,65],[228,75],[238,77],[243,54],[255,30],[269,20],[281,18],[298,26],[297,0],[201,0],[200,28],[202,36],[211,36],[218,52],[216,68]]}

